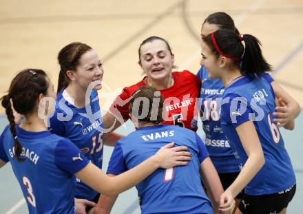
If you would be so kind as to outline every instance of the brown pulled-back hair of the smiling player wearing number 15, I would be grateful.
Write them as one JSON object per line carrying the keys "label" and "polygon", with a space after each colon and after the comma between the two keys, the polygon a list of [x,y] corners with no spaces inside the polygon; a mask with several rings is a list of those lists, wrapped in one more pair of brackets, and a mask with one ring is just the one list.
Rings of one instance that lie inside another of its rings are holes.
{"label": "brown pulled-back hair of the smiling player wearing number 15", "polygon": [[89,50],[92,50],[92,47],[79,42],[70,43],[60,50],[58,54],[60,73],[57,93],[62,89],[65,89],[70,83],[70,78],[68,78],[66,72],[68,70],[76,71],[76,67],[79,65],[81,56]]}

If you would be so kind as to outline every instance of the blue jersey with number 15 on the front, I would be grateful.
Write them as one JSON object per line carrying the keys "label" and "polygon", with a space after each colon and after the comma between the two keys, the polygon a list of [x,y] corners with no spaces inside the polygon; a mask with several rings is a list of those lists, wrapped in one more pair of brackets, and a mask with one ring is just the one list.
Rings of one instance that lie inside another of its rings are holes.
{"label": "blue jersey with number 15 on the front", "polygon": [[[77,108],[70,96],[62,90],[56,100],[56,111],[50,118],[50,131],[68,138],[98,168],[103,161],[103,133],[98,93],[92,91],[90,105]],[[76,197],[93,200],[98,192],[80,180],[76,184]]]}

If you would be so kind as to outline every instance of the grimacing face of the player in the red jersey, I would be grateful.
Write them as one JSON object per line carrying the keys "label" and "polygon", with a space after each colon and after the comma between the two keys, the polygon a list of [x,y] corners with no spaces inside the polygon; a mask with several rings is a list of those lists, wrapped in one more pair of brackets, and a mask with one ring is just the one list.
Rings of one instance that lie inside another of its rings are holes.
{"label": "grimacing face of the player in the red jersey", "polygon": [[139,64],[148,78],[162,80],[171,76],[174,54],[171,55],[164,41],[156,39],[140,47]]}

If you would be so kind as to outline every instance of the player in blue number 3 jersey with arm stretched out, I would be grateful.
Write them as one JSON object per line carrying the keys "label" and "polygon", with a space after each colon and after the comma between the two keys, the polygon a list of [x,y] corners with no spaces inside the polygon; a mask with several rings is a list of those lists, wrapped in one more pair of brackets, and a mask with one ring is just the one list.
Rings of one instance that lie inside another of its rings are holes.
{"label": "player in blue number 3 jersey with arm stretched out", "polygon": [[[48,131],[42,115],[54,110],[50,102],[54,98],[54,85],[41,69],[19,72],[8,94],[1,98],[10,125],[0,136],[0,167],[7,162],[12,164],[29,213],[76,213],[76,177],[98,192],[116,195],[158,167],[184,165],[190,159],[189,153],[178,152],[186,147],[171,148],[173,145],[169,144],[136,169],[109,178],[70,140]],[[24,116],[20,125],[14,122],[12,106]]]}

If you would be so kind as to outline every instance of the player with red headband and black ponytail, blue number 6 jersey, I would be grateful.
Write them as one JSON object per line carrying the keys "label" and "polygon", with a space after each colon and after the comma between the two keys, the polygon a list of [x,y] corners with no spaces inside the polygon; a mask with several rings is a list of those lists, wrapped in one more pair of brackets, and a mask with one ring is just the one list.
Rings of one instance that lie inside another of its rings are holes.
{"label": "player with red headband and black ponytail, blue number 6 jersey", "polygon": [[[217,30],[202,43],[201,65],[225,87],[222,129],[242,163],[221,202],[245,187],[236,213],[285,213],[295,194],[295,173],[274,122],[275,92],[264,74],[271,66],[259,44],[254,36],[231,30]],[[286,125],[293,127],[293,120]]]}

